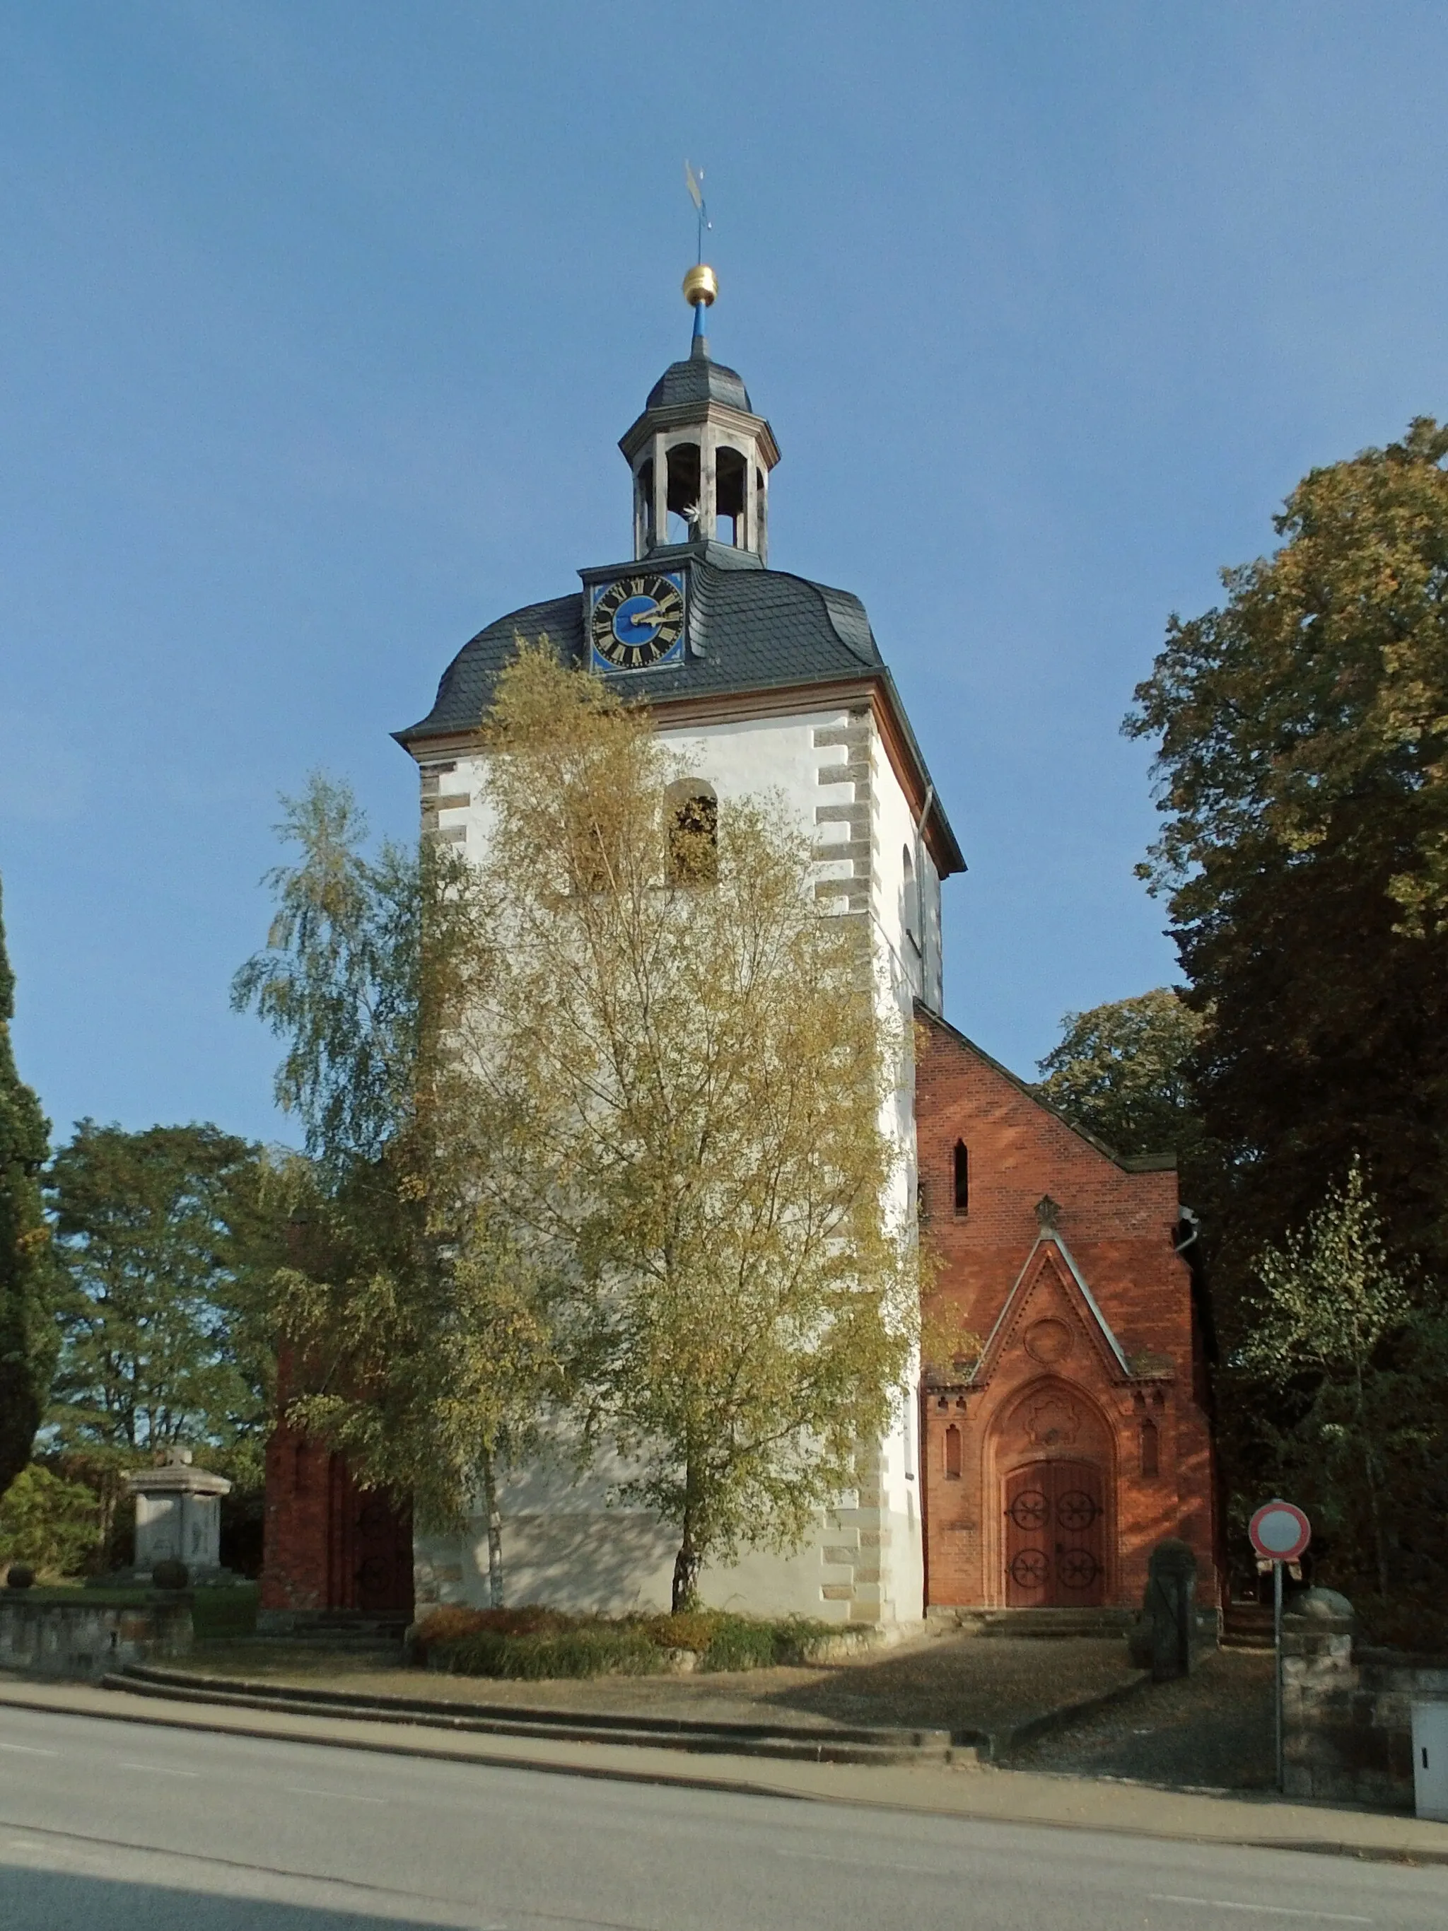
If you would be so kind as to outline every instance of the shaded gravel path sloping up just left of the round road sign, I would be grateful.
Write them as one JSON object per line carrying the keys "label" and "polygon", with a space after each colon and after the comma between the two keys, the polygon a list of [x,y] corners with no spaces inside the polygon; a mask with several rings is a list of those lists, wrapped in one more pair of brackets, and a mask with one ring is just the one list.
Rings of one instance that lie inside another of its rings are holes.
{"label": "shaded gravel path sloping up just left of the round road sign", "polygon": [[1218,1649],[1191,1676],[1151,1684],[1025,1746],[1012,1755],[1012,1769],[1195,1790],[1270,1790],[1272,1657]]}

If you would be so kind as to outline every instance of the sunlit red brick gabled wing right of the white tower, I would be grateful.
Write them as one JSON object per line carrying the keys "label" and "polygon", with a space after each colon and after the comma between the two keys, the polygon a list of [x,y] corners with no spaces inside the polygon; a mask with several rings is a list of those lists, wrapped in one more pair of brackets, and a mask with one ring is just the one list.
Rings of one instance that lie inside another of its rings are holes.
{"label": "sunlit red brick gabled wing right of the white tower", "polygon": [[[931,1603],[1012,1599],[1006,1481],[1050,1460],[1085,1464],[1102,1485],[1104,1518],[1093,1533],[1104,1574],[1083,1603],[1139,1603],[1147,1556],[1166,1535],[1191,1543],[1212,1601],[1212,1444],[1191,1280],[1174,1251],[1176,1172],[1129,1172],[925,1014],[915,1079],[921,1228],[938,1257],[936,1311],[948,1307],[985,1342],[1019,1282],[975,1375],[963,1361],[927,1369]],[[969,1168],[963,1213],[954,1205],[958,1141]],[[1037,1218],[1043,1197],[1056,1203],[1054,1228]]]}

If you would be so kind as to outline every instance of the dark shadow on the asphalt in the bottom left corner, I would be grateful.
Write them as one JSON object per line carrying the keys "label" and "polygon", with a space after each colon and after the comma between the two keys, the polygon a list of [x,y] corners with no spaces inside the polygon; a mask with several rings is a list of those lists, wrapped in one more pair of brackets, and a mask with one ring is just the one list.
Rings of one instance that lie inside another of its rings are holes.
{"label": "dark shadow on the asphalt in the bottom left corner", "polygon": [[[14,1834],[23,1833],[15,1829]],[[42,1856],[52,1856],[50,1846]],[[299,1883],[320,1889],[326,1881]],[[232,1894],[181,1890],[170,1885],[39,1869],[14,1858],[0,1863],[6,1931],[81,1931],[83,1925],[104,1925],[104,1931],[253,1931],[259,1923],[265,1923],[266,1931],[388,1931],[388,1925],[458,1923],[456,1917],[425,1917],[413,1912],[407,1917],[378,1917],[375,1904],[365,1912],[278,1904],[274,1890],[274,1885],[255,1889],[237,1885]]]}

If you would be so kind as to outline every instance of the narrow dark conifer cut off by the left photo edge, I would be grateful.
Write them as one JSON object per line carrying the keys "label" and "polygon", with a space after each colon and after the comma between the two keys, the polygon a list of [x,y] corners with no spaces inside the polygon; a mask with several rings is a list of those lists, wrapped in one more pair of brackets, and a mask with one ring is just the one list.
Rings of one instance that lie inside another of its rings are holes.
{"label": "narrow dark conifer cut off by the left photo edge", "polygon": [[15,975],[0,921],[0,1497],[31,1458],[56,1361],[54,1265],[41,1201],[46,1120],[15,1072]]}

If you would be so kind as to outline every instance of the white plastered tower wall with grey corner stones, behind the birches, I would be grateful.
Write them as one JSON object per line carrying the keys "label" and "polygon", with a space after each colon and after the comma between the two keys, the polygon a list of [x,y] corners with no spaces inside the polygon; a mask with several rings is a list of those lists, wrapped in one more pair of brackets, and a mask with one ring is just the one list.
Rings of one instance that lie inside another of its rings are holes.
{"label": "white plastered tower wall with grey corner stones, behind the birches", "polygon": [[[660,740],[689,776],[714,788],[720,811],[730,799],[778,794],[813,832],[821,915],[867,923],[880,996],[904,1045],[882,1128],[898,1153],[886,1211],[905,1220],[915,1203],[909,1016],[915,996],[938,1002],[938,877],[871,707],[824,703],[782,716],[664,724]],[[425,826],[481,855],[488,836],[483,755],[421,753],[419,767]],[[759,1549],[738,1564],[707,1566],[699,1581],[705,1603],[842,1624],[900,1624],[923,1614],[915,1381],[911,1363],[892,1429],[861,1454],[859,1487],[824,1512],[805,1545],[794,1554]],[[562,1464],[510,1473],[502,1516],[512,1603],[668,1609],[676,1537],[649,1510],[610,1506],[626,1473],[610,1454],[577,1477]],[[487,1603],[481,1508],[461,1537],[419,1537],[417,1599]]]}

